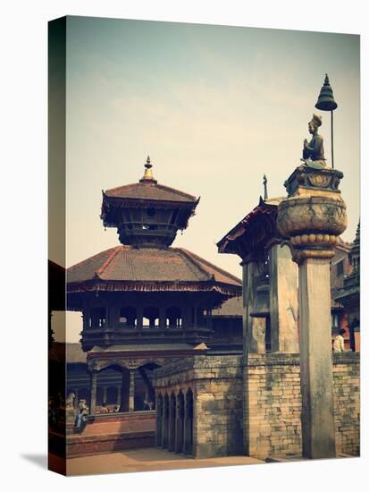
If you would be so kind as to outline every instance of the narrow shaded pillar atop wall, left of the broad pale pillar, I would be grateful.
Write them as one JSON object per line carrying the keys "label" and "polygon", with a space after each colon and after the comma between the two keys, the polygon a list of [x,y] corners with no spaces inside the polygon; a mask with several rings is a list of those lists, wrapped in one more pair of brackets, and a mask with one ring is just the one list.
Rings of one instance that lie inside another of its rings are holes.
{"label": "narrow shaded pillar atop wall, left of the broad pale pillar", "polygon": [[243,351],[247,353],[265,352],[265,318],[252,318],[255,293],[256,277],[259,275],[258,262],[253,259],[242,262],[243,276]]}

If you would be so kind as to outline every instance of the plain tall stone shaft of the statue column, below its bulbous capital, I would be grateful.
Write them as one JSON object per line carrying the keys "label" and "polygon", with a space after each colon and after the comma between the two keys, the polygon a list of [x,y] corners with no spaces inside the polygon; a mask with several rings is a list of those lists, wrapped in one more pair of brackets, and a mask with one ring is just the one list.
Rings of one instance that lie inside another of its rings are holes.
{"label": "plain tall stone shaft of the statue column, below its bulbous capital", "polygon": [[335,456],[329,259],[298,267],[303,455]]}

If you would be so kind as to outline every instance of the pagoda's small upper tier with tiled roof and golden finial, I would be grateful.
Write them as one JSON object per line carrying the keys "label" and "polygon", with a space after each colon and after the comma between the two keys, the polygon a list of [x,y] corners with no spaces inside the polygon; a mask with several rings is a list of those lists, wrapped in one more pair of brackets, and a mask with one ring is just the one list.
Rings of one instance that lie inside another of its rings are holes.
{"label": "pagoda's small upper tier with tiled roof and golden finial", "polygon": [[189,193],[158,184],[150,157],[137,183],[103,191],[101,218],[116,227],[122,244],[138,248],[167,248],[177,231],[186,229],[198,200]]}

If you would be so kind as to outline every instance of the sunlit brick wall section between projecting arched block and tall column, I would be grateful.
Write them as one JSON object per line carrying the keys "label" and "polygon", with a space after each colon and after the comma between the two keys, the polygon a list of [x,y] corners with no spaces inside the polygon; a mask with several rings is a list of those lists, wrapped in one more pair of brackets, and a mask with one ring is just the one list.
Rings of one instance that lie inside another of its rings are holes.
{"label": "sunlit brick wall section between projecting arched block and tall column", "polygon": [[246,454],[301,454],[298,355],[249,354],[244,376]]}

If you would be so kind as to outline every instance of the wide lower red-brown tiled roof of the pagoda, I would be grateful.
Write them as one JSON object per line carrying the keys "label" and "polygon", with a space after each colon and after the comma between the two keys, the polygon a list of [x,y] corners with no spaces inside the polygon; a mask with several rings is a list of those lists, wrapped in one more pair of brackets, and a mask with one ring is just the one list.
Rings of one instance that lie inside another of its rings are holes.
{"label": "wide lower red-brown tiled roof of the pagoda", "polygon": [[67,270],[68,292],[92,290],[218,290],[240,294],[242,283],[189,250],[116,246]]}

